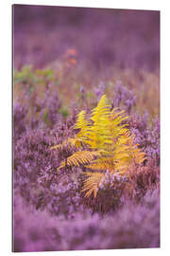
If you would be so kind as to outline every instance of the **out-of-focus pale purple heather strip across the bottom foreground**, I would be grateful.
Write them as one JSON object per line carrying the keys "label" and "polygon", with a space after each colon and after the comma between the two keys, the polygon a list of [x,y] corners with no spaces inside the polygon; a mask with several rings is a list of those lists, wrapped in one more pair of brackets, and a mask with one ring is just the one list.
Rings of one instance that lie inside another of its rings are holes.
{"label": "out-of-focus pale purple heather strip across the bottom foreground", "polygon": [[[74,219],[34,210],[15,195],[14,251],[160,247],[160,192],[114,214],[75,213]],[[37,221],[39,220],[39,221]]]}

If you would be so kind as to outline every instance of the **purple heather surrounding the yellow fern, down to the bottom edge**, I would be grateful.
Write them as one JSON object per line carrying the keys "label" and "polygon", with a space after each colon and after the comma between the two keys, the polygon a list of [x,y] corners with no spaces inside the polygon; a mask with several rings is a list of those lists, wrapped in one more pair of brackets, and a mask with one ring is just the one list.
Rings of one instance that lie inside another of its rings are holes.
{"label": "purple heather surrounding the yellow fern, down to the bottom edge", "polygon": [[[73,137],[76,133],[73,128],[77,107],[72,104],[72,114],[62,117],[58,113],[59,98],[51,91],[49,86],[41,99],[36,91],[27,94],[24,90],[25,103],[19,98],[14,102],[14,250],[159,247],[159,119],[150,125],[148,115],[134,113],[135,96],[118,83],[112,104],[128,112],[129,129],[147,159],[141,168],[134,166],[129,170],[128,178],[109,175],[100,184],[96,198],[85,198],[81,192],[84,168],[65,167],[57,172],[60,160],[72,155],[74,148],[50,150],[63,137]],[[30,107],[39,115],[29,113]],[[48,113],[51,110],[48,121],[43,119],[44,108]],[[156,194],[154,203],[150,202],[152,192]],[[125,224],[118,224],[118,219]],[[138,229],[144,229],[143,235],[136,236]]]}

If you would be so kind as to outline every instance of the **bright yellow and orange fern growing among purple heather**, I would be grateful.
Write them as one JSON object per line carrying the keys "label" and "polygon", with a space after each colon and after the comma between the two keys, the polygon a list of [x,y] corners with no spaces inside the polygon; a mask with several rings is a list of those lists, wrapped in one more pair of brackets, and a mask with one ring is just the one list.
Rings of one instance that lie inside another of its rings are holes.
{"label": "bright yellow and orange fern growing among purple heather", "polygon": [[79,131],[76,136],[51,148],[77,150],[61,162],[58,170],[67,166],[84,166],[94,171],[104,171],[85,173],[88,175],[82,189],[82,192],[86,192],[85,196],[92,193],[96,196],[107,170],[110,175],[127,175],[131,165],[140,165],[144,161],[144,153],[134,144],[134,135],[130,135],[127,124],[123,124],[127,119],[124,111],[117,108],[110,111],[110,101],[103,95],[93,109],[91,119],[86,119],[85,111],[78,114],[75,129]]}

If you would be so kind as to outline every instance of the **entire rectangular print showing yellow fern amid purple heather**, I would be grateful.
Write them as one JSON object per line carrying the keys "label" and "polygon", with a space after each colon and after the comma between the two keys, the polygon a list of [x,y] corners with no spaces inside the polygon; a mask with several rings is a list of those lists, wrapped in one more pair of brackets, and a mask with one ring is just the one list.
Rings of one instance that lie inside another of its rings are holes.
{"label": "entire rectangular print showing yellow fern amid purple heather", "polygon": [[160,247],[159,12],[13,11],[13,251]]}

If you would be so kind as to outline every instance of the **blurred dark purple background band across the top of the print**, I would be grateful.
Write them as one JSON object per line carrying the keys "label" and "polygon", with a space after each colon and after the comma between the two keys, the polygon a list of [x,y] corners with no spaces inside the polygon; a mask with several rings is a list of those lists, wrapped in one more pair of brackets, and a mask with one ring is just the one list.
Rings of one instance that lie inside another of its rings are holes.
{"label": "blurred dark purple background band across the top of the print", "polygon": [[110,66],[160,68],[160,12],[152,10],[13,6],[14,65],[45,64],[74,49],[97,72]]}

